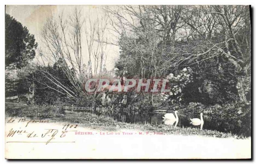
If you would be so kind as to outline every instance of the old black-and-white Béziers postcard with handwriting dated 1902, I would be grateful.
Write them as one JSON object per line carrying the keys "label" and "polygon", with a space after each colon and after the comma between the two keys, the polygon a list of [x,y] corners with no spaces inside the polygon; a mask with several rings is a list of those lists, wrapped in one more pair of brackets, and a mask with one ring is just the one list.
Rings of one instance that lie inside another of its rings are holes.
{"label": "old black-and-white B\u00e9ziers postcard with handwriting dated 1902", "polygon": [[6,159],[251,159],[251,6],[6,5]]}

